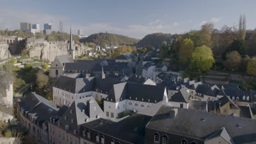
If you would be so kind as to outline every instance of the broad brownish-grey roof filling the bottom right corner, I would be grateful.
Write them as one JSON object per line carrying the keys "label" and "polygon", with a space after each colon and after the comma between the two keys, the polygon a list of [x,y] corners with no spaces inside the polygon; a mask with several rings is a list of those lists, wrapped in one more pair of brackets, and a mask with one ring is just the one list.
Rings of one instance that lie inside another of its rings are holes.
{"label": "broad brownish-grey roof filling the bottom right corner", "polygon": [[235,143],[256,142],[256,121],[254,119],[181,108],[177,108],[178,113],[173,118],[170,115],[172,109],[172,107],[162,105],[156,115],[150,119],[147,128],[205,140],[224,127]]}

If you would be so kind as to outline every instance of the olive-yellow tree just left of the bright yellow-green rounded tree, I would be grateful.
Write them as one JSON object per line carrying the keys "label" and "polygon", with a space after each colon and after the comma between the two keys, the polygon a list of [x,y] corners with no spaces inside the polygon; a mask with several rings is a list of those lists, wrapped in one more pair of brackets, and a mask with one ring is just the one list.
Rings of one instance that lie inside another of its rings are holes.
{"label": "olive-yellow tree just left of the bright yellow-green rounded tree", "polygon": [[194,51],[194,43],[191,39],[184,39],[179,49],[179,61],[187,64],[190,61],[191,55]]}

